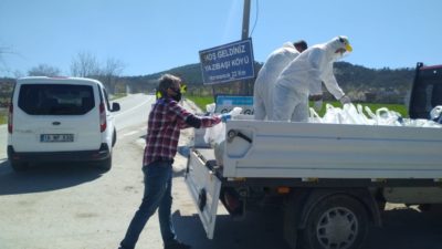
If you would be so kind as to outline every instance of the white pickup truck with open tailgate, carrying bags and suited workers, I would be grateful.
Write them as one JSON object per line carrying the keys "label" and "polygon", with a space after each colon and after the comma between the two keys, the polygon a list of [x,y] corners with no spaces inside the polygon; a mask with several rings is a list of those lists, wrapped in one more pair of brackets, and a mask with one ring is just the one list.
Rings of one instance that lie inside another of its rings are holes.
{"label": "white pickup truck with open tailgate, carrying bags and suited workers", "polygon": [[[418,63],[410,117],[442,104],[442,65]],[[386,203],[442,204],[442,129],[425,127],[227,122],[223,166],[213,149],[190,152],[186,183],[208,238],[219,200],[233,216],[265,206],[284,211],[296,248],[359,248]],[[299,242],[301,241],[301,242]]]}

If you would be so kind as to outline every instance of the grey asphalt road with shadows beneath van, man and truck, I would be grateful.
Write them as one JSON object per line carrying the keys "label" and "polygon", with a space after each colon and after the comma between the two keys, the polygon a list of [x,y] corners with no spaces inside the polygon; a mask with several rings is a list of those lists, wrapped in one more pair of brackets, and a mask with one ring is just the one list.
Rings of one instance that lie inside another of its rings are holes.
{"label": "grey asphalt road with shadows beneath van, man and truck", "polygon": [[[141,156],[147,113],[152,96],[119,100],[118,142],[113,168],[91,165],[36,165],[15,174],[6,156],[4,125],[0,126],[0,249],[117,248],[143,195]],[[188,143],[191,131],[181,136]],[[194,249],[288,249],[278,212],[250,214],[232,220],[220,207],[214,239],[208,240],[182,178],[186,158],[177,156],[173,178],[173,220],[179,238]],[[442,211],[420,212],[388,205],[385,226],[371,229],[365,249],[441,249]],[[155,215],[137,249],[160,249]]]}

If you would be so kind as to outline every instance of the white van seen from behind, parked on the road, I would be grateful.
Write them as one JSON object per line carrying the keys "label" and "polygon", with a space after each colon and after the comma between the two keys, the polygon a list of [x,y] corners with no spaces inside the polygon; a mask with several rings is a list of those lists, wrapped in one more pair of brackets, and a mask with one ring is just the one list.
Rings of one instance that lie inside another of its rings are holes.
{"label": "white van seen from behind, parked on the road", "polygon": [[108,170],[116,143],[113,112],[99,81],[81,77],[23,77],[17,81],[8,122],[12,168],[29,163],[95,162]]}

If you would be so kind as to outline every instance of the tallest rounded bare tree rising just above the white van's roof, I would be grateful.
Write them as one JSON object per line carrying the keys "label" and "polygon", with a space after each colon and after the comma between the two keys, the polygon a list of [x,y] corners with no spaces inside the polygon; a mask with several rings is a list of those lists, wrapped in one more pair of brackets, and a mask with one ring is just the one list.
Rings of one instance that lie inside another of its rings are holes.
{"label": "tallest rounded bare tree rising just above the white van's roof", "polygon": [[72,59],[71,74],[80,77],[98,76],[99,64],[95,55],[90,52],[80,52]]}

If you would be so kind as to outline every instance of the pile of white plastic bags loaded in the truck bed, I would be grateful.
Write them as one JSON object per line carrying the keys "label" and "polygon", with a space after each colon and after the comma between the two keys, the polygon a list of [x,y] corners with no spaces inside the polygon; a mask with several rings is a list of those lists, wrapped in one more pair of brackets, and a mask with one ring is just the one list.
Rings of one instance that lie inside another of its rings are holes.
{"label": "pile of white plastic bags loaded in the truck bed", "polygon": [[[320,117],[314,108],[309,108],[311,123],[328,123],[328,124],[357,124],[357,125],[389,125],[389,126],[412,126],[412,127],[442,127],[434,121],[442,118],[442,106],[434,107],[430,115],[431,120],[411,120],[403,118],[398,112],[390,111],[387,107],[378,108],[372,112],[370,107],[357,104],[345,104],[343,108],[326,104],[326,112]],[[365,112],[364,112],[365,111]]]}

